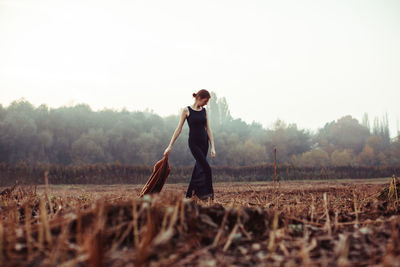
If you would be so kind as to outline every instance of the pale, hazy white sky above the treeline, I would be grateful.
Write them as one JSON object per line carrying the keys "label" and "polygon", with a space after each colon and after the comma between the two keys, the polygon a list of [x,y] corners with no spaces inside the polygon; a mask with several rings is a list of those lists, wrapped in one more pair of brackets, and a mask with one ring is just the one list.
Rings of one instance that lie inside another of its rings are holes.
{"label": "pale, hazy white sky above the treeline", "polygon": [[248,123],[387,113],[394,135],[400,1],[0,0],[3,106],[167,116],[202,88]]}

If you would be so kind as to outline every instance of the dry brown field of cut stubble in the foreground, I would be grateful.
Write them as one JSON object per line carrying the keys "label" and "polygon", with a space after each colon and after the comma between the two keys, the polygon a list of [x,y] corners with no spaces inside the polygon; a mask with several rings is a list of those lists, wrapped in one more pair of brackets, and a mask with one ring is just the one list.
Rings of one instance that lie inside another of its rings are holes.
{"label": "dry brown field of cut stubble in the foreground", "polygon": [[389,182],[218,183],[213,203],[186,184],[1,188],[0,265],[400,266]]}

